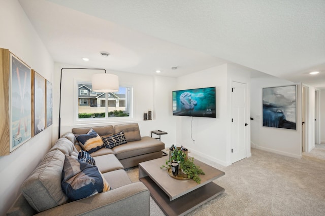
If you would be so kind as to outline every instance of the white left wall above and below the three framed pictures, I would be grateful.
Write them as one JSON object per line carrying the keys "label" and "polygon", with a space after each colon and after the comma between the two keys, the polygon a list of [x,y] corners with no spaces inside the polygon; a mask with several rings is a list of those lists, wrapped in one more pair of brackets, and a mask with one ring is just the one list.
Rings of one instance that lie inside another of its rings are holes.
{"label": "white left wall above and below the three framed pictures", "polygon": [[[32,69],[53,81],[53,60],[16,0],[0,0],[0,47],[9,49]],[[52,82],[53,83],[53,82]],[[0,215],[20,194],[20,186],[51,147],[52,126],[0,157]]]}

